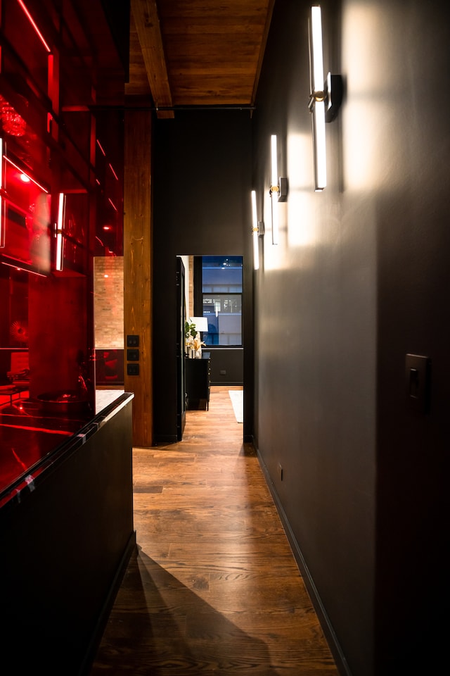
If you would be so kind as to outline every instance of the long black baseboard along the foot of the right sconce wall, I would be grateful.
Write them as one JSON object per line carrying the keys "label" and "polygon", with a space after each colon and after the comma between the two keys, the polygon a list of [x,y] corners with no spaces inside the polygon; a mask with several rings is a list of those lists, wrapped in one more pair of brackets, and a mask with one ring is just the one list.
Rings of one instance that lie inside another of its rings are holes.
{"label": "long black baseboard along the foot of the right sconce wall", "polygon": [[309,596],[311,597],[314,610],[316,611],[317,617],[319,618],[319,622],[321,623],[323,633],[325,634],[325,637],[328,641],[328,645],[330,646],[330,651],[333,653],[333,658],[335,659],[336,666],[338,667],[341,676],[352,676],[352,672],[349,669],[347,660],[345,659],[344,653],[342,652],[342,649],[340,647],[338,637],[336,637],[335,631],[333,630],[333,625],[331,625],[330,618],[328,618],[326,610],[321,601],[321,597],[319,596],[319,592],[317,591],[316,585],[314,584],[314,580],[311,576],[311,573],[309,572],[307,564],[304,561],[300,546],[290,527],[290,523],[285,514],[278,493],[276,492],[274,483],[271,480],[269,470],[267,469],[266,464],[264,463],[264,460],[262,459],[262,456],[259,453],[259,449],[257,449],[257,446],[255,445],[255,439],[252,439],[252,442],[257,454],[259,465],[262,469],[262,473],[264,474],[266,484],[269,487],[272,499],[274,500],[276,511],[278,512],[281,524],[283,525],[286,537],[288,538],[290,548],[293,551],[295,562],[297,563],[300,573],[304,579],[304,584],[307,587]]}

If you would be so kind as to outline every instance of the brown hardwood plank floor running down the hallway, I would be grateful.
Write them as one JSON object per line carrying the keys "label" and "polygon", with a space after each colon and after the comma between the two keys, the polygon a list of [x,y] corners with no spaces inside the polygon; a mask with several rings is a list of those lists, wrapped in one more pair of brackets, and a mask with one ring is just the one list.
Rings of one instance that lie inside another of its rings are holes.
{"label": "brown hardwood plank floor running down the hallway", "polygon": [[338,675],[229,389],[133,451],[137,547],[91,676]]}

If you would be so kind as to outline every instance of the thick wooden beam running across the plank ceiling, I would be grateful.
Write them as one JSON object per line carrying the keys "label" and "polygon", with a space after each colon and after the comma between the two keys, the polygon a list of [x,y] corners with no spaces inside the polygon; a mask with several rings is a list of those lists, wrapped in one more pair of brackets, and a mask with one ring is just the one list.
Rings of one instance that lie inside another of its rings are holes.
{"label": "thick wooden beam running across the plank ceiling", "polygon": [[[164,45],[160,29],[160,19],[155,0],[131,0],[136,31],[141,43],[142,55],[146,64],[148,82],[158,118],[174,118],[172,108],[172,92]],[[164,108],[164,110],[160,110]]]}

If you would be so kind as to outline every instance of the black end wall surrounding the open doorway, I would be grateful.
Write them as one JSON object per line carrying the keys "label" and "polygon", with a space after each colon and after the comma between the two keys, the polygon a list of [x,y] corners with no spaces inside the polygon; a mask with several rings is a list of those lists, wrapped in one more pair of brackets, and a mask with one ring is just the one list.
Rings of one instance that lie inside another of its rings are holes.
{"label": "black end wall surrounding the open doorway", "polygon": [[[251,120],[248,111],[177,111],[153,141],[155,443],[176,441],[176,256],[244,256],[244,382],[252,433]],[[214,358],[214,355],[213,355]]]}

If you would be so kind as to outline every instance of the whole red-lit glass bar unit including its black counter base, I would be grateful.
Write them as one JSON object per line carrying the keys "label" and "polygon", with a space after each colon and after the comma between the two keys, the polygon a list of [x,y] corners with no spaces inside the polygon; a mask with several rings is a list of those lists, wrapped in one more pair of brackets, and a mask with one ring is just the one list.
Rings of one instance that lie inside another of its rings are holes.
{"label": "whole red-lit glass bar unit including its black counter base", "polygon": [[0,0],[0,596],[17,674],[81,672],[134,537],[132,395],[101,415],[94,349],[94,258],[123,254],[128,22],[128,2]]}

